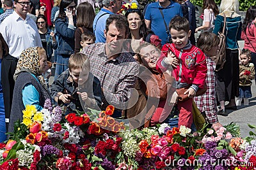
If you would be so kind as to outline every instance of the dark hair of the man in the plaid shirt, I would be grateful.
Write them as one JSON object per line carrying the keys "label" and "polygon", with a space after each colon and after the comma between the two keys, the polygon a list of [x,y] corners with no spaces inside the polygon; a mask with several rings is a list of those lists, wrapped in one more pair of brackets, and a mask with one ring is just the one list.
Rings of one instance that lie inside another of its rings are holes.
{"label": "dark hair of the man in the plaid shirt", "polygon": [[106,32],[108,32],[110,24],[115,24],[119,30],[125,29],[125,36],[129,34],[129,23],[124,15],[109,15],[106,20]]}

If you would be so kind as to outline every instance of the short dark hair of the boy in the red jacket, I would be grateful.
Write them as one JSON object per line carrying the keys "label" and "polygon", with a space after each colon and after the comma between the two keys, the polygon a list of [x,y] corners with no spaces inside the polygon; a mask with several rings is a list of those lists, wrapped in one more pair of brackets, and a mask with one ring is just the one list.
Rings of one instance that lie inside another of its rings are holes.
{"label": "short dark hair of the boy in the red jacket", "polygon": [[169,24],[169,30],[175,29],[177,31],[189,32],[189,21],[185,17],[175,16],[172,18]]}

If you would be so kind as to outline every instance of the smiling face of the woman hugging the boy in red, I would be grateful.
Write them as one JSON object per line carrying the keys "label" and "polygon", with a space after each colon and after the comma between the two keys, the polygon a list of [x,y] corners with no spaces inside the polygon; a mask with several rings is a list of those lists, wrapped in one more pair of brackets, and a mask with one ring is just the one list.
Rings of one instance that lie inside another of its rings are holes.
{"label": "smiling face of the woman hugging the boy in red", "polygon": [[140,55],[141,60],[146,67],[151,69],[156,68],[156,62],[160,57],[160,52],[156,47],[152,45],[145,46],[141,48]]}

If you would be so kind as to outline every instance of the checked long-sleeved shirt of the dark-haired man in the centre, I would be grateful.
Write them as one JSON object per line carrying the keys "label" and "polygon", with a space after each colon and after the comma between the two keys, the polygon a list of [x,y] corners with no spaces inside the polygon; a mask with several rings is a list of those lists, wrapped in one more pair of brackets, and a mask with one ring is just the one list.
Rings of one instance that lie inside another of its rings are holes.
{"label": "checked long-sleeved shirt of the dark-haired man in the centre", "polygon": [[83,49],[82,53],[90,59],[90,72],[96,76],[104,91],[102,110],[109,104],[124,110],[135,87],[138,63],[128,52],[122,52],[116,59],[109,60],[105,43],[96,43]]}

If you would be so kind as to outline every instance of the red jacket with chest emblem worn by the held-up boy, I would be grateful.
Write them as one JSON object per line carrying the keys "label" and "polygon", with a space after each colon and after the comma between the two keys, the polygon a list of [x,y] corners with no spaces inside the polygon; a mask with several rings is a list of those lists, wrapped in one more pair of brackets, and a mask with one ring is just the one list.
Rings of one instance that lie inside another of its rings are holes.
{"label": "red jacket with chest emblem worn by the held-up boy", "polygon": [[204,82],[207,73],[207,66],[205,55],[194,45],[188,49],[177,49],[175,45],[165,44],[162,48],[162,55],[157,61],[156,69],[157,71],[165,71],[166,68],[161,65],[164,57],[167,57],[168,52],[172,50],[175,56],[179,58],[180,64],[177,68],[173,67],[173,76],[175,80],[179,83],[188,83],[198,85],[199,88],[204,87]]}

